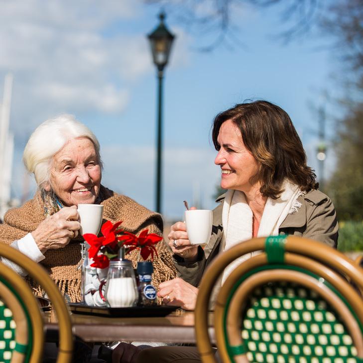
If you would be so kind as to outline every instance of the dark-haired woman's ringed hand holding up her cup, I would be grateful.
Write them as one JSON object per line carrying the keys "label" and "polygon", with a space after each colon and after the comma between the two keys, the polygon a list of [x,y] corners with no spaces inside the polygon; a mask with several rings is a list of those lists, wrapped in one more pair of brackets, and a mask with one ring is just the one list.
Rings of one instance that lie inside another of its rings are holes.
{"label": "dark-haired woman's ringed hand holding up her cup", "polygon": [[187,227],[183,222],[171,226],[168,235],[169,246],[173,253],[183,257],[185,261],[194,261],[198,254],[198,245],[191,244],[188,240]]}

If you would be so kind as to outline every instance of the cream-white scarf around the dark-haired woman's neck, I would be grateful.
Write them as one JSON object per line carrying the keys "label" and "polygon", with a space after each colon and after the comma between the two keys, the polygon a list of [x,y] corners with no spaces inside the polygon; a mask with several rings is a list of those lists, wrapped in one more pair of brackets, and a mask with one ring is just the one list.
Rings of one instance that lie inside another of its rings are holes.
{"label": "cream-white scarf around the dark-haired woman's neck", "polygon": [[[279,198],[267,198],[257,237],[277,236],[278,229],[287,215],[293,214],[297,208],[301,207],[297,198],[303,192],[297,185],[285,180],[282,189],[284,191]],[[222,210],[222,225],[222,251],[252,238],[252,211],[243,192],[232,189],[227,191]],[[228,275],[251,255],[251,253],[247,253],[230,263],[223,272],[222,284]]]}

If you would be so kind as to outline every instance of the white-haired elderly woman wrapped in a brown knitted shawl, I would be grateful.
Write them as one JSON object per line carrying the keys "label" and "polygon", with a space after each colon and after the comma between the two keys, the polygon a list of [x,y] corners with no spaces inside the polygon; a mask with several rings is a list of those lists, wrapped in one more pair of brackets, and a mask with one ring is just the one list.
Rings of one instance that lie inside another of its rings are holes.
{"label": "white-haired elderly woman wrapped in a brown knitted shawl", "polygon": [[[73,116],[62,115],[39,125],[25,146],[23,160],[27,170],[34,173],[38,191],[22,207],[5,214],[0,241],[41,263],[68,301],[80,301],[79,204],[103,204],[104,220],[122,221],[121,227],[134,234],[148,229],[162,236],[159,214],[101,184],[99,142]],[[153,283],[157,287],[176,273],[165,243],[159,242],[156,249]],[[129,257],[133,261],[137,256],[134,252]],[[43,293],[35,281],[29,279],[29,283]]]}

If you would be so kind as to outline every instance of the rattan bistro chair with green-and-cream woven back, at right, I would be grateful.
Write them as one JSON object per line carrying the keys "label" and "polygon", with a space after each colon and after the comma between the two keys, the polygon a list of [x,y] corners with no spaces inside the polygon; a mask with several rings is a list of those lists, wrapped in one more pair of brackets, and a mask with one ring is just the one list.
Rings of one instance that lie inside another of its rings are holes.
{"label": "rattan bistro chair with green-and-cream woven back, at right", "polygon": [[206,309],[213,287],[232,261],[257,251],[232,271],[215,301],[222,362],[362,363],[362,299],[344,276],[363,288],[363,269],[321,242],[293,236],[242,242],[211,263],[195,309],[202,362],[216,362]]}

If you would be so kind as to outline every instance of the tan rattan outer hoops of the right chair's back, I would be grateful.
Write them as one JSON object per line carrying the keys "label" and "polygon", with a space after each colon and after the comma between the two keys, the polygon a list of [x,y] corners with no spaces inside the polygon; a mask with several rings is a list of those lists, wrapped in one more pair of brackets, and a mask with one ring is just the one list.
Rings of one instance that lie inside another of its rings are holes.
{"label": "tan rattan outer hoops of the right chair's back", "polygon": [[[263,266],[269,263],[267,254],[264,251],[265,241],[266,238],[255,238],[250,241],[242,242],[224,253],[221,253],[206,270],[200,284],[195,308],[197,346],[204,363],[216,362],[207,329],[208,309],[205,308],[206,306],[209,306],[209,300],[214,284],[225,267],[233,260],[249,252],[263,251],[244,261],[236,268],[225,281],[218,294],[215,311],[215,333],[217,342],[221,342],[221,336],[219,336],[220,334],[223,335],[223,330],[220,329],[221,316],[223,316],[222,312],[224,311],[224,304],[226,303],[227,296],[241,274],[246,273],[257,266]],[[359,288],[363,288],[362,267],[355,265],[353,261],[350,261],[343,253],[334,250],[333,248],[328,248],[321,242],[315,242],[304,238],[294,236],[286,237],[284,250],[283,262],[285,264],[300,266],[304,269],[308,268],[316,275],[322,276],[322,278],[330,282],[341,295],[347,298],[349,304],[356,313],[359,322],[363,324],[362,299],[356,290],[350,286],[341,275],[332,270],[334,269],[348,276]],[[229,357],[228,352],[224,350],[223,345],[221,347],[218,345],[218,348],[222,359]]]}

